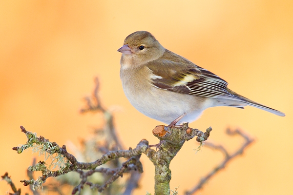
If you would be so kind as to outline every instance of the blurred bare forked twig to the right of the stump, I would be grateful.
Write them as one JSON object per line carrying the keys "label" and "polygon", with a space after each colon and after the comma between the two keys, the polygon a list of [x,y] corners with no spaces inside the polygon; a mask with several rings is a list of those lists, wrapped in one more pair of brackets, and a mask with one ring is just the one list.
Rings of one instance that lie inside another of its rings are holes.
{"label": "blurred bare forked twig to the right of the stump", "polygon": [[230,136],[239,135],[239,136],[243,137],[245,139],[245,143],[243,143],[243,145],[237,151],[235,151],[234,153],[232,153],[230,155],[222,145],[213,144],[211,142],[205,142],[206,146],[208,146],[208,147],[210,147],[212,149],[215,149],[215,150],[219,150],[220,152],[222,152],[223,155],[225,156],[225,158],[220,164],[218,164],[206,176],[202,177],[201,180],[199,181],[199,183],[196,186],[194,186],[191,190],[185,192],[185,195],[194,194],[196,191],[201,189],[203,187],[203,185],[205,183],[207,183],[207,181],[212,176],[214,176],[216,173],[218,173],[220,170],[222,170],[233,158],[243,154],[244,150],[254,141],[254,139],[252,137],[250,137],[249,135],[247,135],[246,133],[244,133],[243,131],[241,131],[239,129],[236,129],[234,131],[231,131],[230,129],[227,129],[226,133],[228,135],[230,135]]}

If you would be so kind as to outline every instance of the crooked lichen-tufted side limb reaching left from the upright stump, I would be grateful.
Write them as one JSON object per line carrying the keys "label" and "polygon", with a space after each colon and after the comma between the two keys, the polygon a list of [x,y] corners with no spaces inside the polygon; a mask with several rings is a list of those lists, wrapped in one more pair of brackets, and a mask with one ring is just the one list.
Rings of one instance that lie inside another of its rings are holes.
{"label": "crooked lichen-tufted side limb reaching left from the upright stump", "polygon": [[[49,153],[49,155],[57,154],[59,158],[62,155],[67,161],[66,163],[63,164],[63,167],[59,165],[58,171],[51,171],[45,165],[44,161],[40,161],[36,165],[29,167],[30,171],[42,172],[42,176],[40,176],[37,180],[34,180],[34,179],[21,180],[21,182],[23,182],[24,185],[31,184],[34,190],[40,188],[48,177],[57,177],[57,176],[61,176],[66,173],[69,173],[72,171],[78,171],[78,170],[95,170],[98,166],[105,164],[106,162],[110,160],[120,158],[120,157],[130,158],[131,159],[130,161],[129,160],[126,161],[128,162],[127,166],[129,166],[130,164],[134,164],[137,167],[136,169],[142,172],[142,166],[141,166],[141,163],[139,162],[139,157],[148,148],[148,142],[145,139],[143,139],[142,141],[139,142],[137,147],[133,150],[129,149],[129,150],[110,151],[94,162],[79,162],[77,161],[75,156],[67,152],[65,145],[63,145],[63,147],[61,148],[56,142],[49,142],[48,139],[45,139],[42,136],[37,137],[35,134],[26,131],[25,128],[22,126],[21,126],[21,132],[25,133],[25,135],[27,136],[28,138],[27,143],[22,145],[21,147],[14,147],[13,150],[17,151],[18,153],[21,153],[23,152],[23,150],[26,150],[28,148],[34,148],[37,146],[41,148],[40,150],[45,151],[43,153]],[[127,171],[127,169],[125,169],[126,164],[123,164],[122,167],[124,167],[123,171],[119,169],[113,174],[113,176],[116,174],[115,175],[116,177],[114,178],[114,180],[118,178],[117,174],[118,176],[122,176],[122,174]],[[98,170],[94,172],[98,172]],[[114,180],[112,179],[111,182],[113,182]]]}

